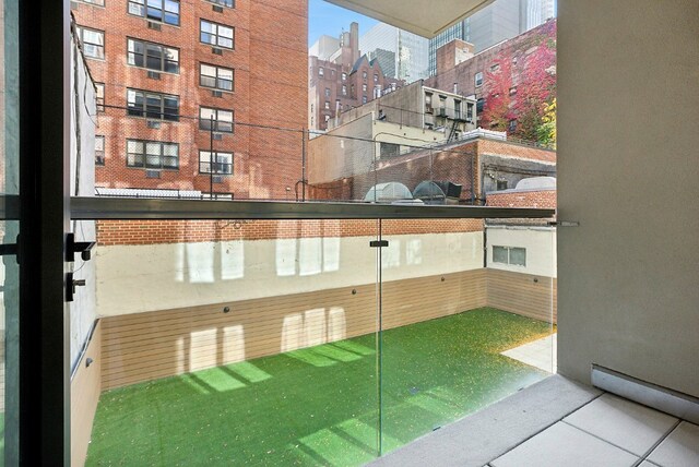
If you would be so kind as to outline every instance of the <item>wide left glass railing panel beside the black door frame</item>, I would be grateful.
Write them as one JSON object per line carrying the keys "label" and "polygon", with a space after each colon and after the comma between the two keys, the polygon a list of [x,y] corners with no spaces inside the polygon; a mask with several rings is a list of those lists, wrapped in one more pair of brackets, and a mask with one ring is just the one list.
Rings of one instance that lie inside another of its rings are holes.
{"label": "wide left glass railing panel beside the black door frame", "polygon": [[376,458],[377,234],[376,220],[97,221],[86,464]]}

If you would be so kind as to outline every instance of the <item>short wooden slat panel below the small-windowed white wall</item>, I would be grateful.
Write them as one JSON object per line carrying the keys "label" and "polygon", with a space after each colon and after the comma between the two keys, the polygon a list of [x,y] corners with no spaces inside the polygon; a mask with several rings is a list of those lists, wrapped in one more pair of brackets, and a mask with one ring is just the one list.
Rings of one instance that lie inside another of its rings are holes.
{"label": "short wooden slat panel below the small-windowed white wall", "polygon": [[553,319],[556,323],[557,279],[489,268],[487,306],[549,323]]}

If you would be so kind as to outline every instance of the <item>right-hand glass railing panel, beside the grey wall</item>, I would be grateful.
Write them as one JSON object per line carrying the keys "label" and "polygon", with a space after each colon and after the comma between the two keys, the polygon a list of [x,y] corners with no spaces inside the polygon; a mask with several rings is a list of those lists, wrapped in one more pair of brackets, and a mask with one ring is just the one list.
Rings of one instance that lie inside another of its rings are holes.
{"label": "right-hand glass railing panel, beside the grey wall", "polygon": [[[541,229],[382,220],[382,453],[550,374],[555,259]],[[501,267],[494,244],[526,252]]]}

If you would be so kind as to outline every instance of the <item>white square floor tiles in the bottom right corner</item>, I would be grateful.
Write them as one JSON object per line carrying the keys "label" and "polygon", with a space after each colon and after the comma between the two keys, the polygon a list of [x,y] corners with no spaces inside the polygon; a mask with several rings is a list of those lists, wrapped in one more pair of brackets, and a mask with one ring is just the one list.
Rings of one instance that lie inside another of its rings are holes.
{"label": "white square floor tiles in the bottom right corner", "polygon": [[489,465],[699,467],[699,427],[603,394]]}

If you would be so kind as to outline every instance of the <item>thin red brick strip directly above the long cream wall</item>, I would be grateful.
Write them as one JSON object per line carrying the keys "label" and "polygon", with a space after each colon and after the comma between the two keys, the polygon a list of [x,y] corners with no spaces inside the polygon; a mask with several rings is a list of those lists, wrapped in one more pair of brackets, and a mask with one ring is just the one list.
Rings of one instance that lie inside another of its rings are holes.
{"label": "thin red brick strip directly above the long cream wall", "polygon": [[[420,235],[482,231],[478,219],[383,220],[381,232]],[[310,237],[370,237],[377,220],[99,220],[100,246],[274,240]]]}

